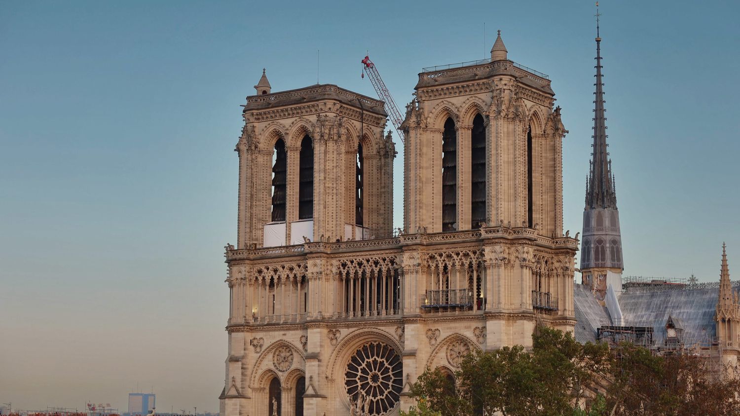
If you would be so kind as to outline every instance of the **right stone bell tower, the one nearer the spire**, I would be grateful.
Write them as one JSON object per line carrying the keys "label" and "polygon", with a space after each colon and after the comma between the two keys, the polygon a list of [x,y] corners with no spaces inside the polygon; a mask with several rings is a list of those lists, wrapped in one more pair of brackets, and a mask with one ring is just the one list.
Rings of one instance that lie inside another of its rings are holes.
{"label": "right stone bell tower, the one nearer the spire", "polygon": [[[406,232],[525,227],[562,236],[562,138],[545,74],[507,58],[419,74],[407,107]],[[465,65],[465,64],[463,64]]]}

